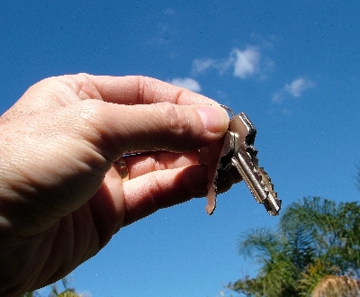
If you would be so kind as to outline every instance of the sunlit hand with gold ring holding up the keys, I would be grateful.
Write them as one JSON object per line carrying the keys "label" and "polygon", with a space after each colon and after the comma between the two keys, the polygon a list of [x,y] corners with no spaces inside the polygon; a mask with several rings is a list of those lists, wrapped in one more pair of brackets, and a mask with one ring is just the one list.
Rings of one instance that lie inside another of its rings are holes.
{"label": "sunlit hand with gold ring holding up the keys", "polygon": [[[59,76],[0,118],[0,295],[51,284],[122,226],[206,194],[197,148],[220,139],[218,103],[139,76]],[[130,180],[114,162],[126,152]]]}

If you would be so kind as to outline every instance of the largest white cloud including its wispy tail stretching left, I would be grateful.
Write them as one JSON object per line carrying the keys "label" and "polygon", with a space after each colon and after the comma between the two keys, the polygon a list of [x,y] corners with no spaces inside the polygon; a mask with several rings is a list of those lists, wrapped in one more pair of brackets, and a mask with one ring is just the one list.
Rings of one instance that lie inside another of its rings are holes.
{"label": "largest white cloud including its wispy tail stretching left", "polygon": [[228,58],[195,59],[193,61],[193,72],[196,74],[204,72],[209,68],[214,68],[222,74],[233,67],[233,75],[245,79],[256,74],[262,76],[264,72],[271,69],[271,67],[269,67],[270,64],[273,65],[274,63],[269,59],[262,62],[262,55],[259,48],[248,46],[243,50],[232,49]]}

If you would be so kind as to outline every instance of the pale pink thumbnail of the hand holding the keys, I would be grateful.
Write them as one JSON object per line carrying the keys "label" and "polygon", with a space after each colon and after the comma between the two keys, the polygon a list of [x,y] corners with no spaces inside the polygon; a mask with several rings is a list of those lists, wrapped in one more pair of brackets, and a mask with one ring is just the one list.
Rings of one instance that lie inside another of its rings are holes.
{"label": "pale pink thumbnail of the hand holding the keys", "polygon": [[206,130],[211,133],[222,133],[228,130],[229,114],[221,106],[204,105],[197,109]]}

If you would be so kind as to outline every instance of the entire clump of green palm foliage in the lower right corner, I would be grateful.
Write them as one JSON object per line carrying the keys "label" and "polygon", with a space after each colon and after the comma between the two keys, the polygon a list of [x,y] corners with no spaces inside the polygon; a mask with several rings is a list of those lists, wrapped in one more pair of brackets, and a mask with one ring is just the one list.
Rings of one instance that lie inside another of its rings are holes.
{"label": "entire clump of green palm foliage in the lower right corner", "polygon": [[239,252],[260,265],[228,288],[247,296],[310,296],[327,275],[359,277],[360,206],[303,198],[285,211],[276,231],[256,229]]}

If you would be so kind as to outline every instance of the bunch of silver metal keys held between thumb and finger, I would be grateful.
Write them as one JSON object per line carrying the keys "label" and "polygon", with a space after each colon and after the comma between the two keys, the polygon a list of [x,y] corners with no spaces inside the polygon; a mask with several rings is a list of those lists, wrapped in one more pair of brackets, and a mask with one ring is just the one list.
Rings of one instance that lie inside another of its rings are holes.
{"label": "bunch of silver metal keys held between thumb and finger", "polygon": [[[208,186],[208,205],[206,211],[211,214],[215,209],[216,202],[216,181],[220,170],[229,170],[235,167],[239,175],[247,184],[250,192],[258,203],[263,203],[270,215],[277,215],[281,209],[281,200],[277,199],[274,192],[274,185],[263,167],[258,166],[257,149],[254,148],[254,141],[257,129],[243,112],[235,115],[229,107],[222,106],[232,114],[229,121],[229,129],[220,150],[220,157],[212,172]],[[202,154],[202,150],[200,150]],[[199,159],[199,161],[201,161]]]}

